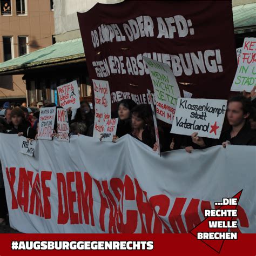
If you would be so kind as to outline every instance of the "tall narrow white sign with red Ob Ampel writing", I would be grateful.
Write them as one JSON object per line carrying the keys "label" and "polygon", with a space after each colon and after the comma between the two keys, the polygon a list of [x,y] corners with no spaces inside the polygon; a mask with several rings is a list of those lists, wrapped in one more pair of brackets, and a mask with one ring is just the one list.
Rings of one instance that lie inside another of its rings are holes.
{"label": "tall narrow white sign with red Ob Ampel writing", "polygon": [[106,119],[111,118],[111,99],[109,82],[92,79],[95,96],[95,120],[93,137],[100,138],[104,132]]}

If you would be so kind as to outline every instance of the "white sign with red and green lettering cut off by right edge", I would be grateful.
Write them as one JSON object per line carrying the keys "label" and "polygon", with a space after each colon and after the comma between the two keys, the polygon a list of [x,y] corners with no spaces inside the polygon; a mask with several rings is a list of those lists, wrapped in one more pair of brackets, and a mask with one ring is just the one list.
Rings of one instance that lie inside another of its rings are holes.
{"label": "white sign with red and green lettering cut off by right edge", "polygon": [[231,91],[251,92],[256,85],[256,38],[246,37]]}

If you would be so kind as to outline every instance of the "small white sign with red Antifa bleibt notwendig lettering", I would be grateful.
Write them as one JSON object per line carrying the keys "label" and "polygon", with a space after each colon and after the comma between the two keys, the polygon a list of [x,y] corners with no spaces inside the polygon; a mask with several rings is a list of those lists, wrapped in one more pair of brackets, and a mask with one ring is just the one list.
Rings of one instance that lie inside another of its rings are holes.
{"label": "small white sign with red Antifa bleibt notwendig lettering", "polygon": [[57,87],[59,96],[59,105],[68,109],[78,109],[80,107],[79,91],[77,80],[71,83],[63,84]]}

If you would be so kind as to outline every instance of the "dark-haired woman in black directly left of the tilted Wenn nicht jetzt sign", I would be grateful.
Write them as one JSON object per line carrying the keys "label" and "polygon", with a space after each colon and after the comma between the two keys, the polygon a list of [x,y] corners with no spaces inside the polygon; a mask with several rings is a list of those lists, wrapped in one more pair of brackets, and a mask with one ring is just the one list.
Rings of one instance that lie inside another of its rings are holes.
{"label": "dark-haired woman in black directly left of the tilted Wenn nicht jetzt sign", "polygon": [[154,124],[150,105],[141,104],[134,107],[132,113],[132,132],[131,136],[140,142],[152,147],[156,143]]}

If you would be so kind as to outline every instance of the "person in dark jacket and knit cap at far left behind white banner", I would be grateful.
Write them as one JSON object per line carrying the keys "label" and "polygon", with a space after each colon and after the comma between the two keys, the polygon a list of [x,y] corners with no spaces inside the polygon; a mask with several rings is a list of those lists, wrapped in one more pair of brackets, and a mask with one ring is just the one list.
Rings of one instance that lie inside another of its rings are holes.
{"label": "person in dark jacket and knit cap at far left behind white banner", "polygon": [[36,131],[31,127],[31,124],[25,120],[25,114],[19,107],[15,107],[11,111],[11,130],[8,133],[35,139]]}

